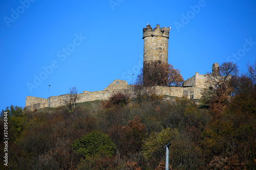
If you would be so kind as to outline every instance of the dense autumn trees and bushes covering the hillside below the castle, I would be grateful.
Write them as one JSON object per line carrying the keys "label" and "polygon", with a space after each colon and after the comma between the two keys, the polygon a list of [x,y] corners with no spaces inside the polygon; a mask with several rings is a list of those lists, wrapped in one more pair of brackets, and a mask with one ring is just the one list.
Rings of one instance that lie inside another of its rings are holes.
{"label": "dense autumn trees and bushes covering the hillside below the castle", "polygon": [[[251,68],[251,69],[250,69]],[[8,112],[10,169],[255,169],[255,69],[205,91],[205,105],[185,98],[113,93],[109,101]],[[4,162],[1,169],[8,169]]]}

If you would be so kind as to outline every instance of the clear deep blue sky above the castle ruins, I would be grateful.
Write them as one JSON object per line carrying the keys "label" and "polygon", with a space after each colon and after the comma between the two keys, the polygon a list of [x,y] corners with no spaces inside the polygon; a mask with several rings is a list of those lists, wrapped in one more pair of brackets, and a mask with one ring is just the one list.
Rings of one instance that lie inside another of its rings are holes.
{"label": "clear deep blue sky above the castle ruins", "polygon": [[[142,67],[142,29],[172,27],[168,63],[184,80],[213,63],[256,59],[256,1],[0,1],[1,107],[132,83]],[[233,55],[232,55],[233,54]],[[237,54],[237,55],[236,55]],[[40,79],[40,80],[38,80]]]}

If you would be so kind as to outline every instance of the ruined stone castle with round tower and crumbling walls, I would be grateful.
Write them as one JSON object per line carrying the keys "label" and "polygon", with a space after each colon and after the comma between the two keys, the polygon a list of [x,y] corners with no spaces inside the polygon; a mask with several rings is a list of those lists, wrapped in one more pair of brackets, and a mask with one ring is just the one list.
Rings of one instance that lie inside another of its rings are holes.
{"label": "ruined stone castle with round tower and crumbling walls", "polygon": [[[143,28],[143,39],[144,39],[144,50],[143,50],[143,65],[152,62],[158,63],[168,63],[168,39],[169,39],[169,28],[160,28],[159,25],[154,28],[151,28],[150,25],[147,25],[146,28]],[[218,63],[212,65],[212,74],[218,75],[219,73]],[[83,93],[78,94],[79,100],[77,103],[89,102],[95,100],[107,100],[109,96],[114,91],[124,91],[132,89],[131,85],[128,85],[124,80],[114,80],[108,87],[102,91],[83,91]],[[202,96],[202,91],[204,88],[209,88],[206,84],[206,76],[200,75],[196,72],[195,76],[184,81],[182,87],[163,87],[163,86],[154,86],[155,91],[158,95],[168,95],[168,96],[177,96],[188,99],[200,99]],[[131,90],[131,93],[133,91]],[[34,110],[39,108],[48,107],[59,107],[63,106],[64,99],[67,94],[50,96],[48,99],[36,98],[33,96],[26,97],[25,107],[28,110]]]}

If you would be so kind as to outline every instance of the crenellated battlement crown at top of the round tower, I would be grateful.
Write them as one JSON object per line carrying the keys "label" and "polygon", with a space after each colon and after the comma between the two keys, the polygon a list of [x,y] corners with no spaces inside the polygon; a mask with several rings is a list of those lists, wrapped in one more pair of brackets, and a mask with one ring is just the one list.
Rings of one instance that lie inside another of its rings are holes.
{"label": "crenellated battlement crown at top of the round tower", "polygon": [[156,28],[154,28],[154,30],[151,28],[150,25],[147,25],[146,28],[143,28],[143,38],[145,37],[154,37],[154,36],[161,36],[161,37],[166,37],[169,38],[169,28],[160,28],[159,25],[157,25]]}

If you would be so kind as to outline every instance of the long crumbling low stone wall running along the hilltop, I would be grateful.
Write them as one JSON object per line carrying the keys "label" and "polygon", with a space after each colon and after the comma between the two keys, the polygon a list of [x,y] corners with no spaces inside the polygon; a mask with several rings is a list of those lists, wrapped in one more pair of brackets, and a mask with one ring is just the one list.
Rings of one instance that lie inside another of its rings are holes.
{"label": "long crumbling low stone wall running along the hilltop", "polygon": [[[118,84],[116,84],[118,81]],[[119,84],[120,83],[120,84]],[[188,99],[200,99],[202,95],[202,88],[198,87],[162,87],[162,86],[155,86],[153,87],[155,92],[158,95],[168,95],[168,96],[177,96],[182,97],[186,96]],[[96,100],[108,100],[113,92],[116,91],[126,91],[130,90],[130,93],[133,93],[132,85],[127,85],[126,81],[122,80],[115,80],[111,83],[105,90],[102,91],[83,91],[83,93],[78,94],[79,99],[77,103],[82,102],[91,102]],[[63,94],[58,96],[50,96],[50,107],[59,107],[64,106],[64,100],[67,98],[69,94]],[[27,96],[26,98],[26,109],[28,110],[35,110],[44,107],[48,107],[48,99],[42,98],[35,98],[32,96]]]}

